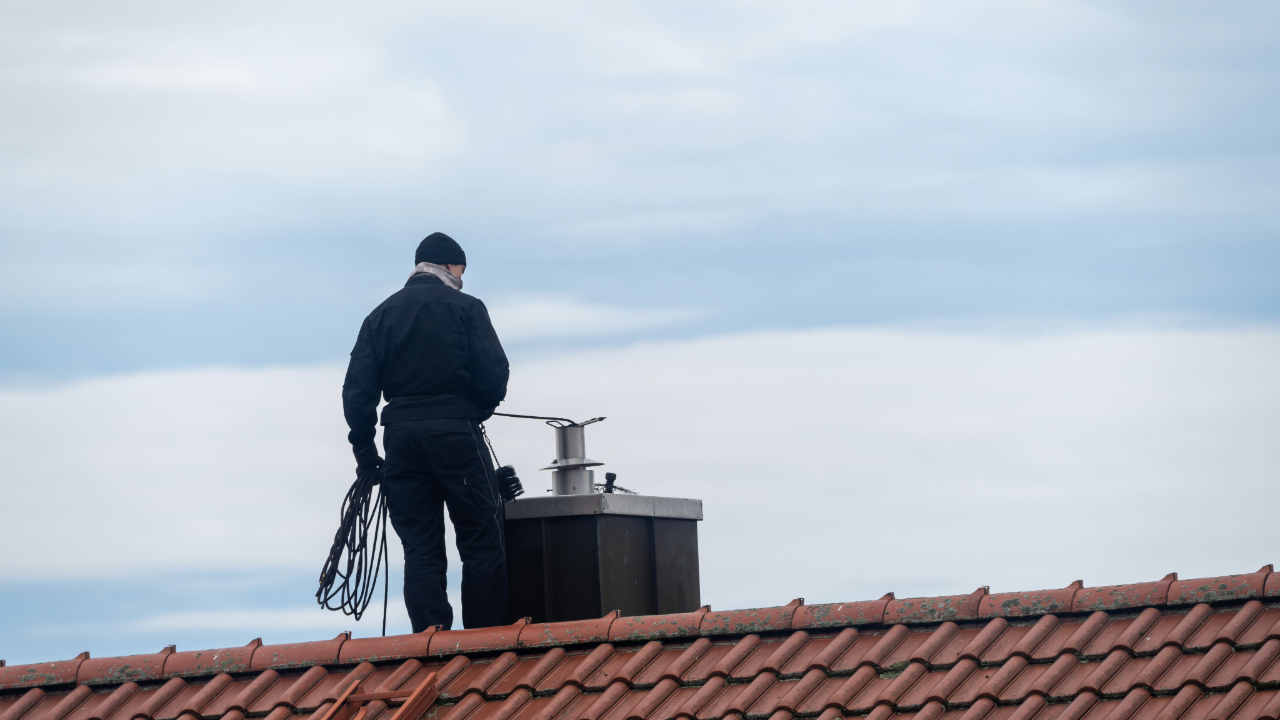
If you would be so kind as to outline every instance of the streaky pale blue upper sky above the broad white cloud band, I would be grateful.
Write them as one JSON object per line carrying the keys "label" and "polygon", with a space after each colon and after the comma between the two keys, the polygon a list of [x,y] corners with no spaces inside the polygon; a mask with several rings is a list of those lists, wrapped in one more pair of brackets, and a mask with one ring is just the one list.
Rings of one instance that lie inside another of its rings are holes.
{"label": "streaky pale blue upper sky above the broad white cloud band", "polygon": [[608,342],[1280,316],[1266,3],[269,8],[0,8],[4,375],[340,359],[436,229]]}

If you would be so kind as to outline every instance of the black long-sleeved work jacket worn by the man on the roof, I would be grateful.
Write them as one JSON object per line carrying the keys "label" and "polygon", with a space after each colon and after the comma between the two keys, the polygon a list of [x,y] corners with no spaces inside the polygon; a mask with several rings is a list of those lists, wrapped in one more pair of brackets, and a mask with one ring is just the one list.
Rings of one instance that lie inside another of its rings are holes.
{"label": "black long-sleeved work jacket worn by the man on the roof", "polygon": [[342,409],[356,450],[383,424],[485,420],[507,397],[507,355],[484,302],[433,275],[416,275],[365,318],[342,384]]}

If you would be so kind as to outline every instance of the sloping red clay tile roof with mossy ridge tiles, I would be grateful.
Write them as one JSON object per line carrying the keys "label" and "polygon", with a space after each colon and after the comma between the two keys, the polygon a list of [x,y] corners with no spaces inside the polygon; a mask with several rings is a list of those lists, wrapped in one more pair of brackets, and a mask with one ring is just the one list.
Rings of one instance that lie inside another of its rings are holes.
{"label": "sloping red clay tile roof with mossy ridge tiles", "polygon": [[0,720],[1277,720],[1271,570],[83,653],[0,667]]}

